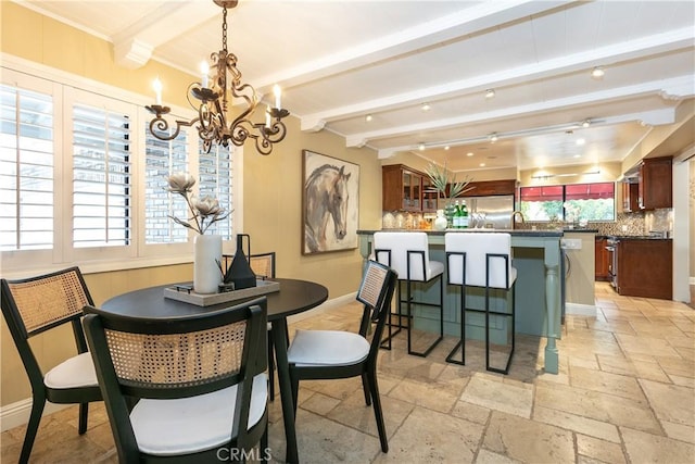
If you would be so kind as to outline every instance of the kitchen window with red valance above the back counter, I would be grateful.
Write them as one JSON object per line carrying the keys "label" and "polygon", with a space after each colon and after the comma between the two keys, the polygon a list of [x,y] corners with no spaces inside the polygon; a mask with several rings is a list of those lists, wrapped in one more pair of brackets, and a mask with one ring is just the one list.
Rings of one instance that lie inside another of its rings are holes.
{"label": "kitchen window with red valance above the back counter", "polygon": [[521,187],[528,221],[615,221],[615,184]]}

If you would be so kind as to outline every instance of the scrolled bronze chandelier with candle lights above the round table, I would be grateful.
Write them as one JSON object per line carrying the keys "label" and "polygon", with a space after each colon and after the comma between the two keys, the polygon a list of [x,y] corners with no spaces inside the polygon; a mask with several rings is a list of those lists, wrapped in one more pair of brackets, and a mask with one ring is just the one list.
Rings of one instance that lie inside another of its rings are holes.
{"label": "scrolled bronze chandelier with candle lights above the round table", "polygon": [[[235,8],[238,0],[214,0],[223,9],[222,50],[211,54],[215,75],[208,87],[207,63],[202,70],[201,83],[188,86],[187,99],[193,110],[198,110],[198,117],[191,121],[176,121],[176,130],[169,131],[169,123],[162,117],[172,110],[162,105],[162,84],[154,83],[156,103],[146,106],[155,117],[150,121],[150,133],[160,140],[175,139],[181,127],[195,125],[198,136],[203,142],[203,150],[208,153],[213,143],[228,147],[229,142],[241,147],[247,139],[255,141],[256,150],[261,154],[269,154],[273,143],[281,141],[287,128],[282,118],[290,114],[280,105],[280,88],[274,87],[275,106],[268,108],[264,123],[253,123],[251,117],[258,104],[255,89],[249,84],[241,83],[241,72],[237,68],[237,57],[227,51],[227,9]],[[192,100],[194,99],[194,100]],[[243,102],[245,109],[230,123],[228,108],[231,100]]]}

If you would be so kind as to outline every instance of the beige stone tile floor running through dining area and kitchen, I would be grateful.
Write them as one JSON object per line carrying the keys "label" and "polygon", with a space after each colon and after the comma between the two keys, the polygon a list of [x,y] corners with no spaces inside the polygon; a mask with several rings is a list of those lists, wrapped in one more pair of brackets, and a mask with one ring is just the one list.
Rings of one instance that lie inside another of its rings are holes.
{"label": "beige stone tile floor running through dining area and kitchen", "polygon": [[[445,339],[427,358],[405,354],[405,336],[380,353],[379,386],[390,451],[380,451],[358,379],[304,381],[296,427],[305,463],[693,463],[695,311],[682,303],[617,296],[596,284],[596,317],[568,315],[560,373],[544,374],[545,341],[519,336],[509,375],[488,373],[467,344],[467,365],[444,362]],[[355,329],[357,304],[294,328]],[[76,431],[76,406],[42,421],[31,462],[117,462],[101,403]],[[281,462],[279,401],[270,448]],[[2,462],[16,462],[24,427],[2,434]]]}

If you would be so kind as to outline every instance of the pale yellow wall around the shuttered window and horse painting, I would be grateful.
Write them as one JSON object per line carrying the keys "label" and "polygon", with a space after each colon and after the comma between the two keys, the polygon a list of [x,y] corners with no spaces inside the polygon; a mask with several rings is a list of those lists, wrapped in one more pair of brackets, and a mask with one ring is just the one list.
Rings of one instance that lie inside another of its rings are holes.
{"label": "pale yellow wall around the shuttered window and horse painting", "polygon": [[[194,76],[155,62],[135,71],[119,67],[113,62],[111,43],[12,2],[0,2],[0,51],[144,96],[151,93],[152,80],[160,76],[165,86],[163,99],[186,106],[185,89]],[[241,66],[243,68],[243,63]],[[261,156],[253,147],[244,148],[243,231],[251,235],[254,251],[277,252],[278,276],[319,281],[328,287],[329,298],[351,293],[356,291],[361,276],[362,258],[356,249],[312,256],[301,254],[302,150],[359,164],[361,228],[376,228],[381,224],[380,163],[369,149],[348,149],[343,138],[327,131],[303,134],[294,117],[289,117],[287,123],[289,134],[270,155]],[[96,304],[125,291],[191,278],[190,264],[86,276]],[[0,324],[0,403],[7,405],[29,398],[30,391],[4,319]],[[36,337],[33,344],[46,368],[74,350],[68,330]]]}

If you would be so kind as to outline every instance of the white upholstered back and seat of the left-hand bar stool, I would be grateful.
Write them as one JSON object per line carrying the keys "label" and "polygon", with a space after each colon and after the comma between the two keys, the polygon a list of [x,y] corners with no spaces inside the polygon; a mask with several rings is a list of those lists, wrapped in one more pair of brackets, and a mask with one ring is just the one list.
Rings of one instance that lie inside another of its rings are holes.
{"label": "white upholstered back and seat of the left-hand bar stool", "polygon": [[374,235],[375,250],[391,250],[391,261],[387,253],[378,253],[377,261],[392,267],[399,273],[399,279],[408,276],[408,251],[424,251],[426,268],[422,271],[421,258],[410,254],[410,280],[427,281],[444,272],[444,264],[430,261],[429,242],[426,233],[384,233]]}

